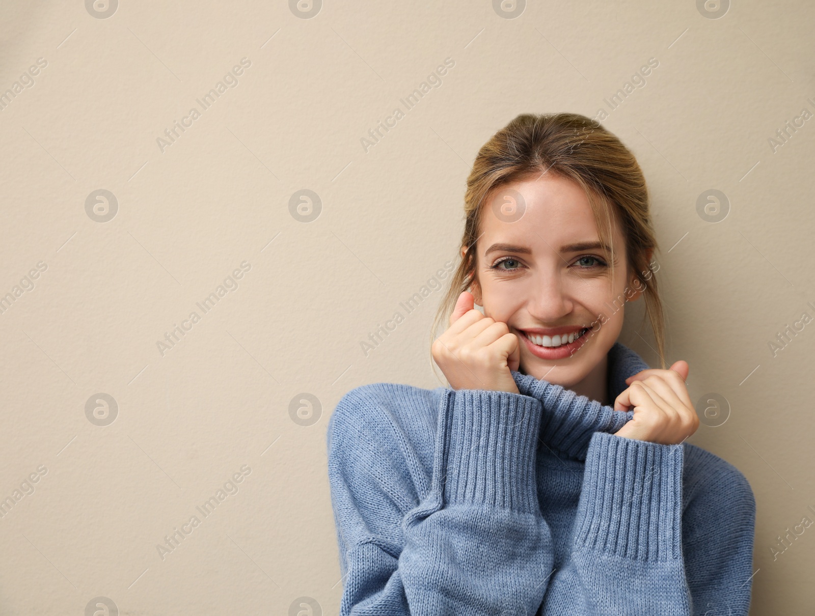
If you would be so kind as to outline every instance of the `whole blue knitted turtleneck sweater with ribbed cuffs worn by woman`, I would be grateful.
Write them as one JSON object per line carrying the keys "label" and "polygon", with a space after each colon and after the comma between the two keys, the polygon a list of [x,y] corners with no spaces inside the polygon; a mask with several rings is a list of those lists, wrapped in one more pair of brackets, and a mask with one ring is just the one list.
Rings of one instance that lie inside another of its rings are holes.
{"label": "whole blue knitted turtleneck sweater with ribbed cuffs worn by woman", "polygon": [[[619,342],[610,399],[647,368]],[[377,383],[328,424],[340,614],[747,614],[756,502],[632,411],[513,372],[519,394]]]}

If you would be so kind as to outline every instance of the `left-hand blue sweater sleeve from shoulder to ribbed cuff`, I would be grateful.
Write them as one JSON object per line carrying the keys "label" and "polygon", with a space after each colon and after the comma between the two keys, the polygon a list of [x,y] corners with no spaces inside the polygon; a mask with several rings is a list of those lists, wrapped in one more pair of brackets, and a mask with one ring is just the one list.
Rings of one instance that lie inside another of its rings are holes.
{"label": "left-hand blue sweater sleeve from shoulder to ribbed cuff", "polygon": [[421,493],[399,422],[346,394],[328,436],[342,616],[537,612],[553,558],[535,485],[540,411],[522,394],[443,390]]}

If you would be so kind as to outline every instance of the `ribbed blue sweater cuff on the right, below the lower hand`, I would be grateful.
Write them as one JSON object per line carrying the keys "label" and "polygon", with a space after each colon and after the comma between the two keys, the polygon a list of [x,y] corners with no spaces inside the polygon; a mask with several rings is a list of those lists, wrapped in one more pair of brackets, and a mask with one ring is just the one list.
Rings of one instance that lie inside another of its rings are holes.
{"label": "ribbed blue sweater cuff on the right, below the lower hand", "polygon": [[575,549],[681,558],[682,445],[597,432],[588,444]]}

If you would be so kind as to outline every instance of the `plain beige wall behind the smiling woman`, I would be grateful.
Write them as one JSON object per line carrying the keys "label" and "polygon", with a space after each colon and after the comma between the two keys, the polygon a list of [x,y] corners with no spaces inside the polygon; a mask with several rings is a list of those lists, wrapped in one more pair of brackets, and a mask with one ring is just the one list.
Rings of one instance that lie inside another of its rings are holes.
{"label": "plain beige wall behind the smiling woman", "polygon": [[[326,2],[310,19],[280,0],[93,12],[0,8],[0,91],[20,82],[0,111],[0,293],[20,286],[0,314],[0,498],[19,498],[0,518],[0,614],[85,614],[97,596],[145,616],[292,614],[302,596],[337,614],[328,417],[356,385],[439,385],[441,293],[368,356],[360,341],[456,257],[465,178],[491,134],[520,112],[593,117],[650,58],[603,123],[653,192],[668,359],[689,362],[694,399],[729,403],[690,442],[756,493],[751,613],[811,609],[815,527],[771,548],[815,520],[815,324],[769,350],[815,317],[811,2],[734,2],[718,19],[693,0],[530,2],[515,19],[489,0]],[[366,152],[447,58],[441,85]],[[289,210],[302,189],[319,198],[311,222]],[[729,204],[720,222],[698,213],[711,189]],[[225,279],[211,310],[196,306]],[[620,341],[656,365],[629,317]],[[317,403],[298,424],[299,394]],[[233,473],[236,493],[200,515]],[[156,545],[194,515],[162,560]]]}

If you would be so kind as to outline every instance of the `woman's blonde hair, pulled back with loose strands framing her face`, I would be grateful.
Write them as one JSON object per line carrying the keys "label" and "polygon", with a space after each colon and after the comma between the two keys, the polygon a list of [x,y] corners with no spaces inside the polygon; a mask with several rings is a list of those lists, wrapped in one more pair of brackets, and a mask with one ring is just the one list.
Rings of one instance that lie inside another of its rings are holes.
{"label": "woman's blonde hair, pulled back with loose strands framing her face", "polygon": [[[654,332],[659,362],[664,369],[663,305],[649,263],[649,253],[653,255],[658,246],[650,219],[645,177],[632,152],[614,134],[597,121],[577,113],[521,114],[478,151],[467,178],[464,199],[465,228],[461,247],[466,247],[466,252],[438,307],[431,328],[431,343],[440,326],[447,328],[460,294],[478,282],[476,241],[481,235],[482,210],[487,196],[497,187],[544,173],[571,179],[583,189],[600,240],[610,247],[612,257],[615,253],[611,240],[612,219],[619,220],[628,267],[636,276],[635,284],[645,287],[645,315]],[[613,261],[612,258],[610,280],[614,278]],[[433,366],[435,371],[435,364]]]}

